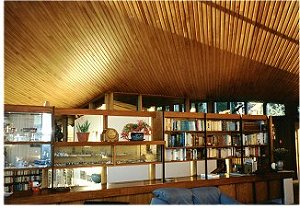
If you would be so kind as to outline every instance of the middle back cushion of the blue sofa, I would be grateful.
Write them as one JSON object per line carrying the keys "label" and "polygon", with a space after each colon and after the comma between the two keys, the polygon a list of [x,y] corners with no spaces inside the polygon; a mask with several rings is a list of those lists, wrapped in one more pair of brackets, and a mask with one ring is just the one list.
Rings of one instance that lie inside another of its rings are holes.
{"label": "middle back cushion of the blue sofa", "polygon": [[216,187],[193,188],[194,204],[220,204],[220,190]]}

